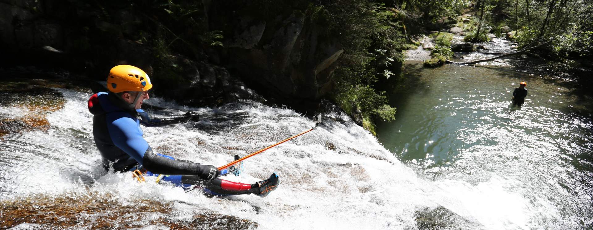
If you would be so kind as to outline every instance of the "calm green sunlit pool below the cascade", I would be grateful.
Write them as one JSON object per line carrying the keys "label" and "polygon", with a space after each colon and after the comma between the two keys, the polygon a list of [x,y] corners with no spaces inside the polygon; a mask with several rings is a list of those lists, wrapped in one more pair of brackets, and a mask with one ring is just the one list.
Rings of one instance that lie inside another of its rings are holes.
{"label": "calm green sunlit pool below the cascade", "polygon": [[[586,226],[592,219],[591,99],[562,80],[510,67],[404,65],[392,90],[396,121],[378,122],[385,147],[419,174],[505,190],[550,205],[544,222]],[[512,92],[527,82],[522,108]],[[534,205],[537,209],[537,205]],[[544,224],[545,225],[545,224]]]}

